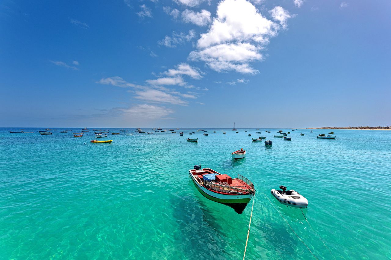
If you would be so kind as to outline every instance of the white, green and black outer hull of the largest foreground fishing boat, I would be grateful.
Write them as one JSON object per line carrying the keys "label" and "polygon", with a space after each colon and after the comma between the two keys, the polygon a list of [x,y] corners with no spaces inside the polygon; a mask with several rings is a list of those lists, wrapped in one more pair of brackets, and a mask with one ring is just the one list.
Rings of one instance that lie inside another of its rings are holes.
{"label": "white, green and black outer hull of the largest foreground fishing boat", "polygon": [[233,208],[238,214],[242,214],[244,209],[247,207],[247,204],[250,202],[253,197],[252,194],[246,195],[236,195],[236,194],[219,194],[213,191],[206,189],[205,187],[198,184],[195,180],[194,175],[189,171],[190,178],[197,190],[207,199],[215,201],[217,203],[224,204],[228,207]]}

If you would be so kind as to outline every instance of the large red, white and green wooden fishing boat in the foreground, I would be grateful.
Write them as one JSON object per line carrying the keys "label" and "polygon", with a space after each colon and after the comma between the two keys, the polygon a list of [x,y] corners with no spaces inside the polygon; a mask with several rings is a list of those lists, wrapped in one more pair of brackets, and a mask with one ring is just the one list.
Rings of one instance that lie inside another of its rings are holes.
{"label": "large red, white and green wooden fishing boat in the foreground", "polygon": [[194,166],[189,175],[197,190],[207,199],[227,205],[242,214],[251,198],[255,195],[252,182],[242,175],[231,178],[210,168]]}

